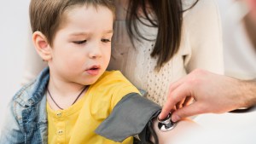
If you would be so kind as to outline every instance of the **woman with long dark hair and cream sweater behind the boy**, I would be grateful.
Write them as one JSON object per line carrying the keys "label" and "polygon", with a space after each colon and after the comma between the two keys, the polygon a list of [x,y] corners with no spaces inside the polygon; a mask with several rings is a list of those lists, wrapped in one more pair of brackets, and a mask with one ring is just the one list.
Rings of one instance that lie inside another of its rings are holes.
{"label": "woman with long dark hair and cream sweater behind the boy", "polygon": [[[169,85],[195,68],[223,73],[215,0],[115,2],[113,56],[108,70],[123,72],[132,84],[148,92],[148,99],[162,106]],[[32,48],[28,53],[36,55]],[[23,84],[44,67],[37,56],[29,60],[31,57],[26,60]]]}

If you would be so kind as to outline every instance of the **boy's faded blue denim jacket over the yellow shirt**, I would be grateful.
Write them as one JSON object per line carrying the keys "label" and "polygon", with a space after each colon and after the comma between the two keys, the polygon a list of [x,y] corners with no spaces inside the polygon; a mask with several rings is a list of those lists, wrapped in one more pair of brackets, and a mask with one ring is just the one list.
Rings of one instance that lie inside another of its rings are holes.
{"label": "boy's faded blue denim jacket over the yellow shirt", "polygon": [[1,130],[0,144],[47,143],[45,89],[49,68],[45,68],[31,84],[21,88],[9,103]]}

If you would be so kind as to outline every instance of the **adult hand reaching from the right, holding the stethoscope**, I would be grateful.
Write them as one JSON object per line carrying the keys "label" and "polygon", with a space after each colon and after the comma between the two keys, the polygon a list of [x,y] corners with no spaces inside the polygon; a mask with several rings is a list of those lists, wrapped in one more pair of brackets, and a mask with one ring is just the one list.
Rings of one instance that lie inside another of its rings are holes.
{"label": "adult hand reaching from the right, holding the stethoscope", "polygon": [[[176,108],[177,110],[172,112],[174,122],[196,114],[229,112],[236,108],[252,106],[255,103],[253,92],[255,92],[256,85],[253,83],[252,87],[248,84],[252,83],[204,70],[195,70],[171,84],[160,119],[166,118],[167,114]],[[247,97],[249,95],[253,95],[254,98]],[[189,106],[184,106],[186,101],[183,101],[187,97],[193,97],[195,101]],[[175,108],[177,104],[183,107]]]}

